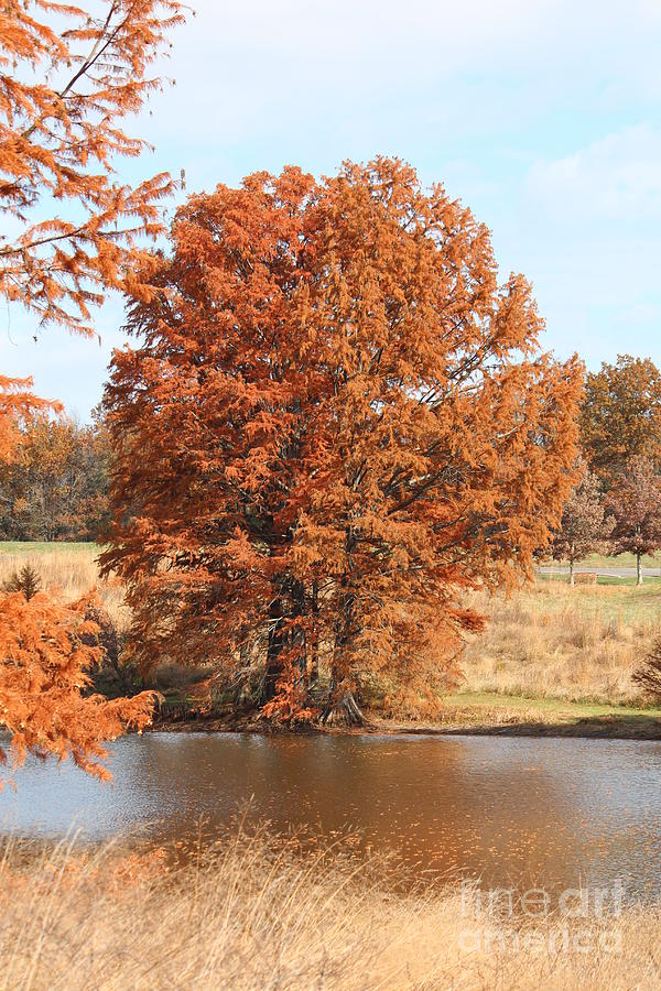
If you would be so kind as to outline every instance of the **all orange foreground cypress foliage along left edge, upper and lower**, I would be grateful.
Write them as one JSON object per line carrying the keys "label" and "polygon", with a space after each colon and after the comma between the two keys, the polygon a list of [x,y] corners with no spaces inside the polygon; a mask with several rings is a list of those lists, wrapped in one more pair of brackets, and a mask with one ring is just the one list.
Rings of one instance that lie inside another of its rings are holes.
{"label": "all orange foreground cypress foliage along left edge, upper and lower", "polygon": [[[170,176],[131,186],[111,163],[143,150],[118,123],[160,87],[149,66],[183,20],[175,0],[107,0],[96,11],[54,0],[0,8],[0,211],[9,231],[0,236],[0,294],[41,325],[83,334],[106,288],[134,286],[140,239],[162,229]],[[0,377],[2,458],[15,451],[21,420],[54,409],[31,384]],[[18,759],[25,750],[72,753],[102,774],[100,741],[127,723],[144,726],[153,698],[86,695],[96,654],[80,640],[94,625],[84,608],[43,595],[0,597],[0,729]]]}

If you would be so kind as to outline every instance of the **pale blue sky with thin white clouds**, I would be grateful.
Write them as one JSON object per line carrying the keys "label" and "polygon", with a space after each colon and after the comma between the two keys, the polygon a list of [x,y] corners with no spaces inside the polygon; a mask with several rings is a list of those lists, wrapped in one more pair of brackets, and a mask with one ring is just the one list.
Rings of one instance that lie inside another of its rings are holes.
{"label": "pale blue sky with thin white clouds", "polygon": [[[661,366],[661,0],[191,3],[161,67],[176,84],[126,128],[155,151],[122,177],[183,168],[193,193],[404,159],[489,226],[503,279],[532,281],[545,349]],[[86,420],[122,322],[116,297],[97,340],[35,340],[4,307],[0,369]]]}

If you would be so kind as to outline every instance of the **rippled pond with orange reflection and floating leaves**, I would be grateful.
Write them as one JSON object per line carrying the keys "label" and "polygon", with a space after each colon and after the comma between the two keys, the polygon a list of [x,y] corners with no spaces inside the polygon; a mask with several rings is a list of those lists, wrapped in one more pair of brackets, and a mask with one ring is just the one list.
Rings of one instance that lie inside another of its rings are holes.
{"label": "rippled pond with orange reflection and floating leaves", "polygon": [[148,733],[115,782],[31,761],[0,792],[4,832],[189,841],[238,814],[389,851],[421,876],[661,892],[661,743],[426,736]]}

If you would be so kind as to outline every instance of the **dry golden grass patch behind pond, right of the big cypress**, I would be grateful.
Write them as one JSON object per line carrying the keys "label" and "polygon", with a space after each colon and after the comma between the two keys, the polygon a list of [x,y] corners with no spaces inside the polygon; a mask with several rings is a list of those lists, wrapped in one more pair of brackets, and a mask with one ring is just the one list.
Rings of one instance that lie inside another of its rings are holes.
{"label": "dry golden grass patch behind pond, right of the big cypress", "polygon": [[473,691],[633,704],[633,669],[661,635],[661,588],[570,588],[539,581],[505,596],[475,596],[489,617],[463,661]]}

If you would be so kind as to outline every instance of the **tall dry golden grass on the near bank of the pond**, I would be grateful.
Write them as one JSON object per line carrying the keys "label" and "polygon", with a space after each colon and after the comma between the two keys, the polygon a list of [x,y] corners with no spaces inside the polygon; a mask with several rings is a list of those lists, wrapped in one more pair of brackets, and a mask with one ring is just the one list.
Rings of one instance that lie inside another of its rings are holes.
{"label": "tall dry golden grass on the near bank of the pond", "polygon": [[0,988],[659,987],[661,911],[533,925],[469,917],[453,889],[395,894],[378,864],[239,835],[186,867],[159,851],[0,862]]}

